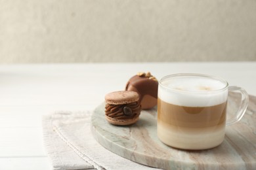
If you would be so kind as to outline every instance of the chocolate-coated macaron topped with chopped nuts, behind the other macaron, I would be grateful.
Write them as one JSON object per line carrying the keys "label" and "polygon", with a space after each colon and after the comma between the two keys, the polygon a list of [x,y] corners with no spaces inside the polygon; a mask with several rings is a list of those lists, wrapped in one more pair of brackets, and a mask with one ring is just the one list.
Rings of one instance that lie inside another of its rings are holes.
{"label": "chocolate-coated macaron topped with chopped nuts, behind the other macaron", "polygon": [[158,80],[150,72],[131,77],[125,90],[139,93],[142,109],[151,109],[158,104]]}

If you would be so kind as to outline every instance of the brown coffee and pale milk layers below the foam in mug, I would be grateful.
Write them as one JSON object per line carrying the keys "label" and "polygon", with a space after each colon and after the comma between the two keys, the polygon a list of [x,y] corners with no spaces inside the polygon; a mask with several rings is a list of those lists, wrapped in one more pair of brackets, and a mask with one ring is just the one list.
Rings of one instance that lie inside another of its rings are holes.
{"label": "brown coffee and pale milk layers below the foam in mug", "polygon": [[158,137],[183,149],[213,148],[222,143],[226,102],[209,107],[184,107],[158,99]]}

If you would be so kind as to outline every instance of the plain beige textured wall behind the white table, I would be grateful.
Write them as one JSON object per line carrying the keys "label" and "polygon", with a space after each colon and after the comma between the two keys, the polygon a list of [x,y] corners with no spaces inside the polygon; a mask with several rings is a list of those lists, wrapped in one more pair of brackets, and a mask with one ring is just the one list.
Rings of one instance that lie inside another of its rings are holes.
{"label": "plain beige textured wall behind the white table", "polygon": [[0,63],[256,61],[255,0],[0,3]]}

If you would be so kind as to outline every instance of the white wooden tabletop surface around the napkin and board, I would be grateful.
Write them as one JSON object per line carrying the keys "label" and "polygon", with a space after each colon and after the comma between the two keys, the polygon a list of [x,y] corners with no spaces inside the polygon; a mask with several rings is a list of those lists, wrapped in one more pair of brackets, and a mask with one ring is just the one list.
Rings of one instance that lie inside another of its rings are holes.
{"label": "white wooden tabletop surface around the napkin and board", "polygon": [[51,169],[41,116],[93,110],[139,71],[221,76],[256,95],[256,62],[0,65],[0,169]]}

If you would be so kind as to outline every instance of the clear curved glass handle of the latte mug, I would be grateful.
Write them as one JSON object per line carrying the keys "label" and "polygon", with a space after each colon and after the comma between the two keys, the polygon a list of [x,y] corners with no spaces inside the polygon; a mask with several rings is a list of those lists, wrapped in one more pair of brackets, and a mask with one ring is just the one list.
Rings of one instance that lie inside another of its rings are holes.
{"label": "clear curved glass handle of the latte mug", "polygon": [[228,92],[239,92],[241,93],[241,102],[240,102],[240,107],[236,111],[236,116],[233,118],[230,118],[229,120],[226,120],[226,126],[234,124],[241,120],[241,118],[244,116],[244,113],[247,109],[248,103],[249,103],[249,96],[247,92],[238,86],[230,86],[228,88]]}

